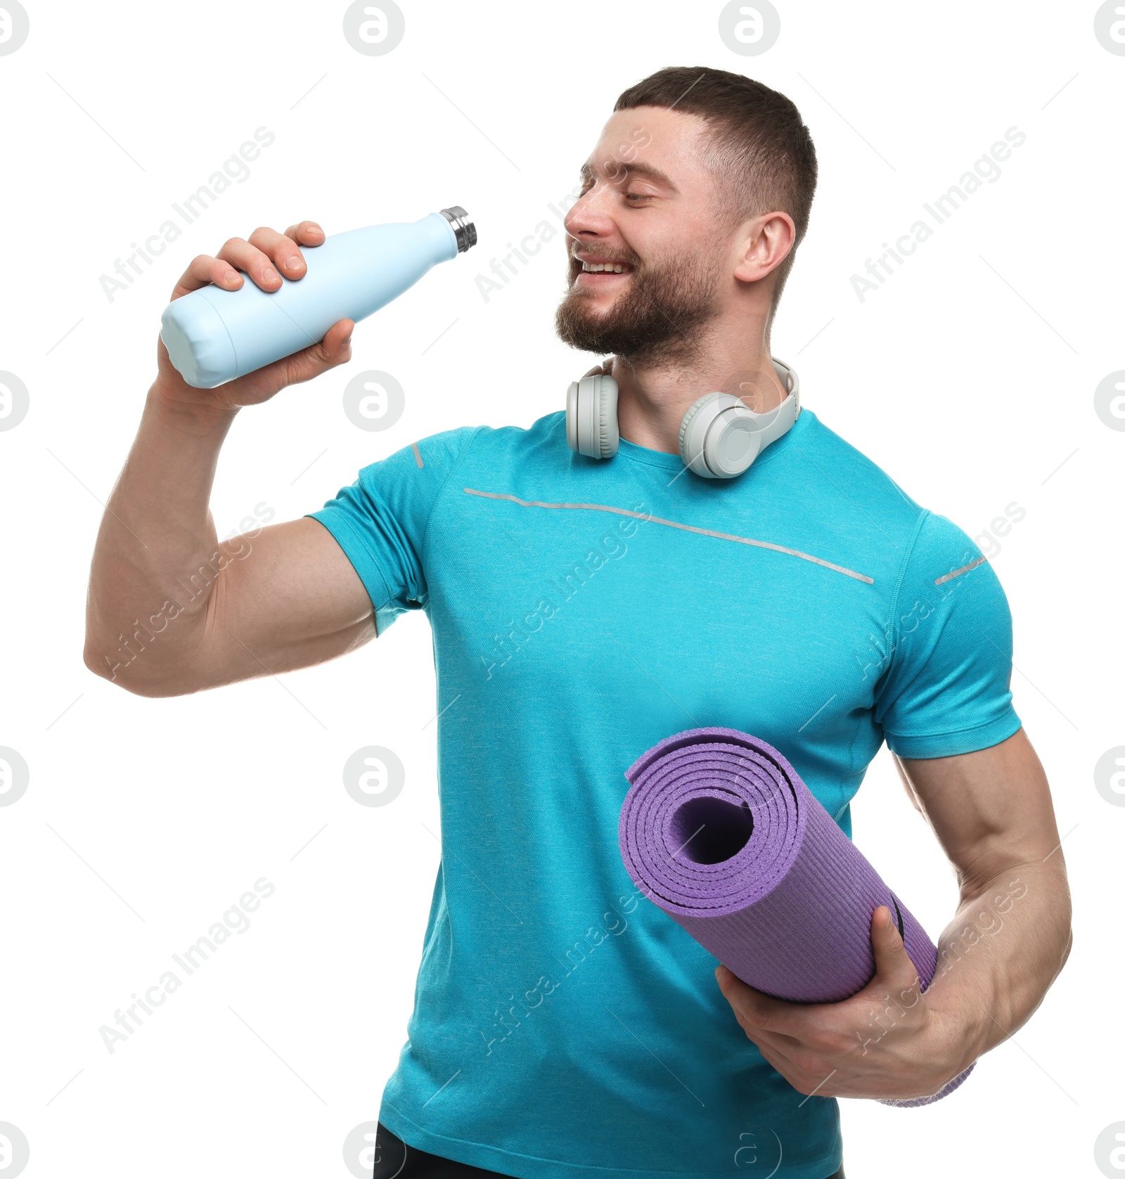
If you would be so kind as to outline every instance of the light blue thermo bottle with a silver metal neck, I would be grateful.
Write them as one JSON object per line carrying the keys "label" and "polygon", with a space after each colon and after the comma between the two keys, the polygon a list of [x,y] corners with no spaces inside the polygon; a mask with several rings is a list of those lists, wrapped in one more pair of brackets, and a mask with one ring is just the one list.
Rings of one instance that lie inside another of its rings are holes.
{"label": "light blue thermo bottle with a silver metal neck", "polygon": [[459,205],[334,233],[301,248],[305,272],[282,278],[279,290],[246,277],[236,291],[202,286],[173,299],[160,316],[160,338],[189,384],[213,389],[318,343],[340,320],[358,322],[475,244],[476,228]]}

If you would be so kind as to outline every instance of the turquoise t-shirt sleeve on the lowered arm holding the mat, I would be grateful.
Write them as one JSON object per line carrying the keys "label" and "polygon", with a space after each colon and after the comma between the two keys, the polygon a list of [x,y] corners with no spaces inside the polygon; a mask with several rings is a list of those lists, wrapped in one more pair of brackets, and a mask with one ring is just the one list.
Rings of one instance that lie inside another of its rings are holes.
{"label": "turquoise t-shirt sleeve on the lowered arm holding the mat", "polygon": [[1019,730],[1007,598],[981,551],[945,516],[927,512],[919,526],[888,640],[875,719],[894,753],[969,753]]}

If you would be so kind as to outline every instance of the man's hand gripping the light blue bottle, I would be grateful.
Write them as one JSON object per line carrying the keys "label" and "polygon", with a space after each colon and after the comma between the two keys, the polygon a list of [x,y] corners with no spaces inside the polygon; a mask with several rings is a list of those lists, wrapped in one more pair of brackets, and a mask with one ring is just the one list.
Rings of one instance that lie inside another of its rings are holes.
{"label": "man's hand gripping the light blue bottle", "polygon": [[[305,274],[305,262],[301,246],[317,246],[324,241],[324,231],[316,222],[303,220],[290,225],[284,233],[272,229],[256,229],[249,237],[232,237],[218,255],[200,253],[180,276],[172,290],[177,299],[189,291],[212,283],[228,291],[238,290],[246,281],[257,283],[264,291],[281,289],[282,275],[287,279],[301,279]],[[244,271],[244,274],[243,274]],[[340,320],[329,328],[318,344],[312,344],[292,356],[283,356],[245,376],[236,377],[215,389],[196,389],[179,375],[167,355],[164,341],[157,338],[157,364],[159,375],[153,393],[175,409],[197,410],[203,414],[233,413],[242,406],[256,406],[269,401],[287,384],[311,381],[337,364],[351,358],[351,320]]]}

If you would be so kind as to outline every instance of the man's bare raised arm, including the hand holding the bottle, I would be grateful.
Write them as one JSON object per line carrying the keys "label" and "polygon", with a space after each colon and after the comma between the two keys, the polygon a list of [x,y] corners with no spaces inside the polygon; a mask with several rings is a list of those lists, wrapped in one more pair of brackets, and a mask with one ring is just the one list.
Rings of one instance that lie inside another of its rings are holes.
{"label": "man's bare raised arm, including the hand holding the bottle", "polygon": [[[232,238],[196,258],[172,297],[208,283],[277,290],[278,271],[305,272],[298,246],[323,239],[311,222]],[[302,518],[219,541],[209,509],[235,416],[349,360],[353,327],[342,320],[321,343],[216,389],[189,386],[158,342],[157,380],[91,564],[91,671],[140,696],[178,696],[322,663],[375,637],[370,598],[321,523]]]}

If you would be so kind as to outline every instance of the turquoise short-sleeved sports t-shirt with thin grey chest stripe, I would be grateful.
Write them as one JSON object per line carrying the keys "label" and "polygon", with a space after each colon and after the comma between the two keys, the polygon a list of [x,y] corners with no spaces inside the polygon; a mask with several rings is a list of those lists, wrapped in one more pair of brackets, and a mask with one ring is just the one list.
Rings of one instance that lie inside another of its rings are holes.
{"label": "turquoise short-sleeved sports t-shirt with thin grey chest stripe", "polygon": [[624,775],[670,733],[741,729],[850,837],[884,739],[1011,737],[980,549],[809,409],[730,480],[624,440],[577,455],[562,413],[449,430],[312,515],[380,633],[408,610],[433,628],[442,858],[383,1125],[526,1179],[825,1179],[837,1104],[763,1059],[717,960],[633,885]]}

